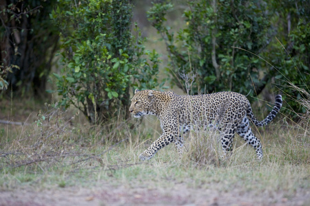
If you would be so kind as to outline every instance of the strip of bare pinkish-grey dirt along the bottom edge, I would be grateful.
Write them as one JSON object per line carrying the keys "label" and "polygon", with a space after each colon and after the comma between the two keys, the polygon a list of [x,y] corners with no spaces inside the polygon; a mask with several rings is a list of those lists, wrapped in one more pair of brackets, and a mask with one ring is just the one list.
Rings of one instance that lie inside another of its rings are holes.
{"label": "strip of bare pinkish-grey dirt along the bottom edge", "polygon": [[[240,193],[189,188],[178,183],[169,188],[131,187],[102,182],[98,187],[56,187],[41,191],[25,188],[0,192],[0,205],[310,205],[310,192],[283,194]],[[211,188],[211,187],[210,187]]]}

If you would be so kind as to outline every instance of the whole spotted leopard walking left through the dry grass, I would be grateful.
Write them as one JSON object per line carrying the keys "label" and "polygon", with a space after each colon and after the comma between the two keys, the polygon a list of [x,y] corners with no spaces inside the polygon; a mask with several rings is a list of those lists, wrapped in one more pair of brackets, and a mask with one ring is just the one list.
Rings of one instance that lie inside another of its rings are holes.
{"label": "whole spotted leopard walking left through the dry grass", "polygon": [[262,144],[251,130],[249,122],[255,126],[266,126],[282,107],[282,96],[275,97],[275,104],[265,119],[259,121],[254,116],[251,104],[245,95],[232,91],[222,91],[200,95],[177,95],[173,91],[134,91],[130,113],[136,117],[155,115],[161,122],[162,135],[147,148],[139,159],[154,157],[158,150],[174,143],[181,156],[184,135],[199,128],[214,128],[219,131],[219,141],[223,156],[232,150],[235,133],[242,137],[256,151],[261,160]]}

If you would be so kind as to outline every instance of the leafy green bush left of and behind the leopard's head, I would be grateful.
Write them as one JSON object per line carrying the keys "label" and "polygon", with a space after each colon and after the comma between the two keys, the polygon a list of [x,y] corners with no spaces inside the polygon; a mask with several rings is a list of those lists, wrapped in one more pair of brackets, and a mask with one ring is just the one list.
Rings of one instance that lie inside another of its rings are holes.
{"label": "leafy green bush left of and behind the leopard's head", "polygon": [[132,34],[128,0],[59,0],[51,19],[61,30],[61,106],[79,108],[94,124],[125,111],[130,88],[158,86],[158,54],[145,50],[138,27]]}

